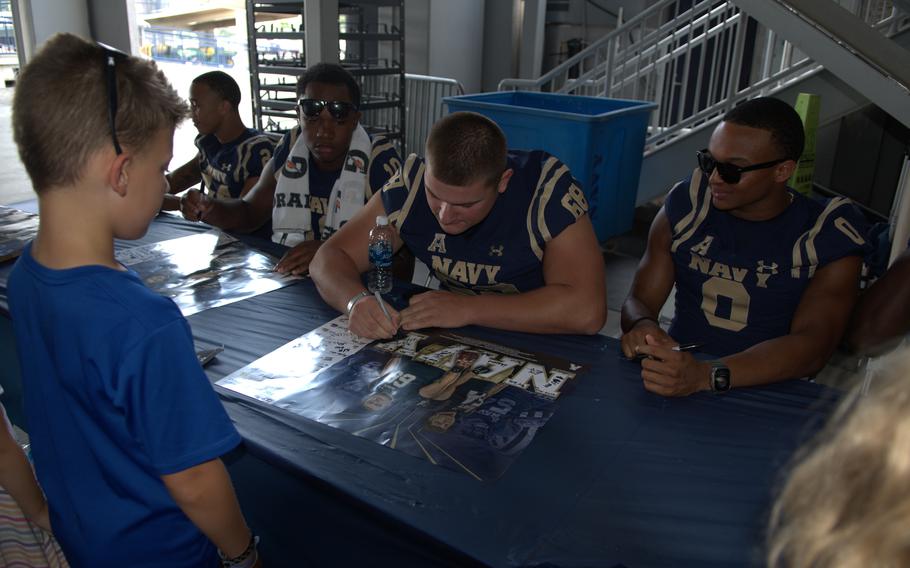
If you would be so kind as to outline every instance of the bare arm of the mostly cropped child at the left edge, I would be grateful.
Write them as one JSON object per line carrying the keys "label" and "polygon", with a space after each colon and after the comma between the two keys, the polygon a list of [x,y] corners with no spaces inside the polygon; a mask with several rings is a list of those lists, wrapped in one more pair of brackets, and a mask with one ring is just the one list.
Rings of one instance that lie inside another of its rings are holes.
{"label": "bare arm of the mostly cropped child at the left edge", "polygon": [[0,486],[3,486],[12,496],[29,520],[50,532],[47,500],[44,498],[41,488],[38,487],[25,452],[13,438],[2,406],[0,406]]}

